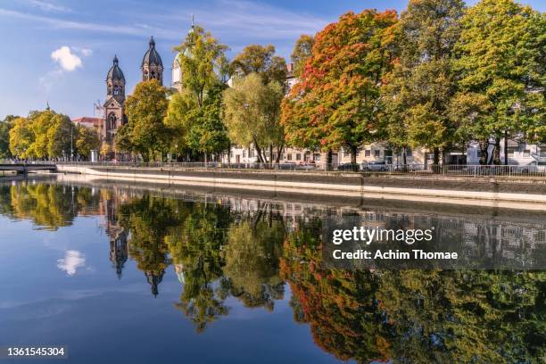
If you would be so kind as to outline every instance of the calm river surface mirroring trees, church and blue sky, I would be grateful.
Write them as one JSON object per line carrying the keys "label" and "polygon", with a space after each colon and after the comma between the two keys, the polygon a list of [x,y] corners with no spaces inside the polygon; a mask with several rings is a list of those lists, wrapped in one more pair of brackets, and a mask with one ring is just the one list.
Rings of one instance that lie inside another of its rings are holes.
{"label": "calm river surface mirroring trees, church and blue sky", "polygon": [[546,244],[540,214],[4,180],[0,345],[94,364],[543,362],[544,271],[326,269],[332,214],[426,220],[469,248]]}

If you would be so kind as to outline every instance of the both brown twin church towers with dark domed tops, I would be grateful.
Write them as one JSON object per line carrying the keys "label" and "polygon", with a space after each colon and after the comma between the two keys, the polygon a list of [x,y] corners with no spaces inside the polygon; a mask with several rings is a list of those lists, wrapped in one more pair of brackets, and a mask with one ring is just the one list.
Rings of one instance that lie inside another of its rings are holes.
{"label": "both brown twin church towers with dark domed tops", "polygon": [[[157,79],[160,85],[163,85],[163,62],[161,62],[161,56],[155,49],[153,37],[150,38],[149,45],[140,66],[142,80]],[[118,128],[127,122],[127,116],[125,115],[125,76],[123,76],[120,69],[117,56],[114,56],[112,67],[108,70],[106,76],[106,101],[103,104],[103,111],[102,139],[112,145]]]}

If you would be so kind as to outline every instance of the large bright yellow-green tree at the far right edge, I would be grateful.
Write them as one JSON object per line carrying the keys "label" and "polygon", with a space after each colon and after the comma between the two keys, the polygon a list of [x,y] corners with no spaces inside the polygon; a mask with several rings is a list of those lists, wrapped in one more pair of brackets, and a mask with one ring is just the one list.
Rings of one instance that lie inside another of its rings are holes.
{"label": "large bright yellow-green tree at the far right edge", "polygon": [[461,29],[455,62],[459,88],[486,97],[491,105],[483,119],[487,134],[476,138],[483,150],[494,138],[486,162],[500,164],[502,136],[533,140],[545,135],[546,16],[512,0],[483,0],[467,10]]}

